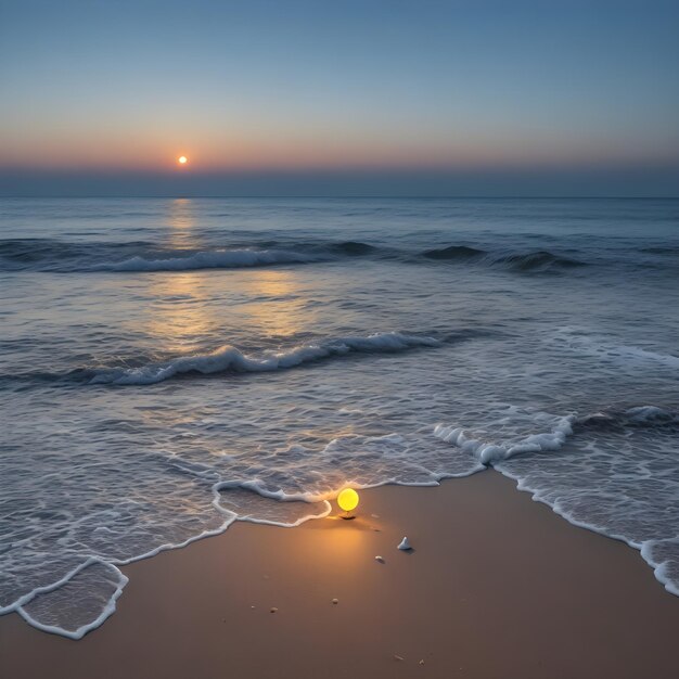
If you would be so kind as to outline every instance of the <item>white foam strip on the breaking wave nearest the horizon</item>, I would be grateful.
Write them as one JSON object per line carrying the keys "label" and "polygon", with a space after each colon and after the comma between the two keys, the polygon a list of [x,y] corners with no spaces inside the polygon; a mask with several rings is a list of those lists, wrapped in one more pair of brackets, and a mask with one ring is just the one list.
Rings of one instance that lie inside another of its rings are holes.
{"label": "white foam strip on the breaking wave nearest the horizon", "polygon": [[194,253],[185,257],[145,259],[130,257],[123,261],[94,265],[93,271],[189,271],[193,269],[236,269],[273,264],[304,264],[319,257],[289,249],[223,249]]}

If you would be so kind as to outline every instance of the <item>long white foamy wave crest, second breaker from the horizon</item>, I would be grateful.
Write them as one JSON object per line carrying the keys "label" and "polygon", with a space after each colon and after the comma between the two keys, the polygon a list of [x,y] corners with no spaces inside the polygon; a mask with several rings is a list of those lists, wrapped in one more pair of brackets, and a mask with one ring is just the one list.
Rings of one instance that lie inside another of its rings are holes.
{"label": "long white foamy wave crest, second breaker from the horizon", "polygon": [[99,370],[90,377],[89,383],[144,385],[157,384],[187,373],[272,372],[350,353],[395,353],[439,345],[440,342],[433,337],[405,335],[397,332],[379,333],[367,337],[332,338],[318,344],[302,345],[279,354],[264,355],[259,358],[246,356],[238,348],[227,345],[209,354],[181,356],[169,361],[150,363],[140,368]]}

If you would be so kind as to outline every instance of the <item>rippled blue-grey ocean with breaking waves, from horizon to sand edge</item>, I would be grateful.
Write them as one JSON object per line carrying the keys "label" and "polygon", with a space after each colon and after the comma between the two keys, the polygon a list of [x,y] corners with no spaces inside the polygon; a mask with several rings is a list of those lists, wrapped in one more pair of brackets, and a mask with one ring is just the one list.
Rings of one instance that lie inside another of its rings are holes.
{"label": "rippled blue-grey ocean with breaking waves, from horizon to sand edge", "polygon": [[679,201],[3,198],[0,291],[0,614],[489,466],[679,595]]}

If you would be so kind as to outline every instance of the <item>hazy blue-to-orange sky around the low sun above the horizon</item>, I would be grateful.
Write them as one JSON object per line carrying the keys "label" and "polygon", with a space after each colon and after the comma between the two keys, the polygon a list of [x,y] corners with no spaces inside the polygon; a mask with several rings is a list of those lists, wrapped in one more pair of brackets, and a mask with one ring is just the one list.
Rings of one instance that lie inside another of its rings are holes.
{"label": "hazy blue-to-orange sky around the low sun above the horizon", "polygon": [[652,0],[0,0],[0,195],[679,196],[678,35]]}

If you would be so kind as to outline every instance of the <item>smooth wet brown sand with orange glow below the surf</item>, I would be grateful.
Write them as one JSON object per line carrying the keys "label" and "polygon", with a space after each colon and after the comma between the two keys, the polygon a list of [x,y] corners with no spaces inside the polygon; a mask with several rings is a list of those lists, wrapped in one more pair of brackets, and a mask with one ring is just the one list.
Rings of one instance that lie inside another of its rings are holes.
{"label": "smooth wet brown sand with orange glow below the surf", "polygon": [[1,617],[0,675],[676,676],[679,600],[640,555],[492,471],[364,491],[349,522],[238,523],[124,571],[116,613],[80,641]]}

